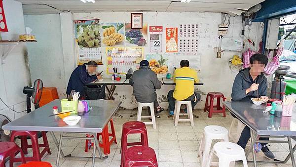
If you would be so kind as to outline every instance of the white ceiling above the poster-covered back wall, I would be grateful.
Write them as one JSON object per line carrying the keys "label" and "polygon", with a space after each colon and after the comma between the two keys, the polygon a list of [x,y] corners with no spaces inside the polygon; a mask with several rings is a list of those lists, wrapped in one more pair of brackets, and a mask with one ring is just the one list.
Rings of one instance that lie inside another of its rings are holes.
{"label": "white ceiling above the poster-covered back wall", "polygon": [[17,0],[23,3],[24,14],[39,15],[61,12],[227,12],[240,15],[264,0]]}

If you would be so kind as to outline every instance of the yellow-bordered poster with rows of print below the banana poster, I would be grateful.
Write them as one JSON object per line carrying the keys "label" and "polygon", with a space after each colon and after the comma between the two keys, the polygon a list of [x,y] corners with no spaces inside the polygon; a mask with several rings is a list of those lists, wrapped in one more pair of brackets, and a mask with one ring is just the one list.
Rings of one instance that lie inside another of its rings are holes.
{"label": "yellow-bordered poster with rows of print below the banana poster", "polygon": [[107,74],[113,74],[113,68],[117,73],[125,74],[130,68],[136,69],[143,60],[143,47],[106,47]]}

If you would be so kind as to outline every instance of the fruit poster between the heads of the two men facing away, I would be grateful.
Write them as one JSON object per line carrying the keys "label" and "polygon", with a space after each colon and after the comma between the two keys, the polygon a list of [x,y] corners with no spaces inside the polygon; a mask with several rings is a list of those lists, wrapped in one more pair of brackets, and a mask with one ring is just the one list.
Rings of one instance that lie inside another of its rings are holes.
{"label": "fruit poster between the heads of the two men facing away", "polygon": [[146,59],[149,66],[156,74],[166,74],[168,72],[168,55],[166,54],[147,54]]}

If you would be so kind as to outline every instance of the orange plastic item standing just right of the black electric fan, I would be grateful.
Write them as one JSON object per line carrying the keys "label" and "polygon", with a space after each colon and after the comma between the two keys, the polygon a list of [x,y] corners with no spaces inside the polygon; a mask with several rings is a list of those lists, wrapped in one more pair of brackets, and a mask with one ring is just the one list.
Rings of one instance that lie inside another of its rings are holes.
{"label": "orange plastic item standing just right of the black electric fan", "polygon": [[39,106],[40,107],[44,106],[45,104],[47,104],[55,99],[59,99],[57,88],[56,87],[43,87]]}

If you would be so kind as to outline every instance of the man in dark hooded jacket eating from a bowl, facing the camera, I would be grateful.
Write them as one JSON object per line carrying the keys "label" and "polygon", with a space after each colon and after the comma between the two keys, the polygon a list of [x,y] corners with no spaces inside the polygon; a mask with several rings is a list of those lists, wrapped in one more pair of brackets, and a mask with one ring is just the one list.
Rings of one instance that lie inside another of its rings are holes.
{"label": "man in dark hooded jacket eating from a bowl, facing the camera", "polygon": [[[255,54],[250,58],[251,67],[241,70],[235,77],[232,86],[232,101],[250,101],[251,98],[261,98],[264,101],[267,97],[267,79],[262,74],[264,67],[268,62],[264,54]],[[250,105],[252,105],[250,103]],[[233,114],[231,114],[235,117]],[[235,117],[236,118],[236,117]],[[245,126],[237,142],[243,149],[246,148],[249,138],[251,137],[250,128]],[[261,137],[259,140],[269,140],[268,137]],[[268,159],[274,159],[274,155],[266,146],[267,143],[260,143],[262,152]]]}

